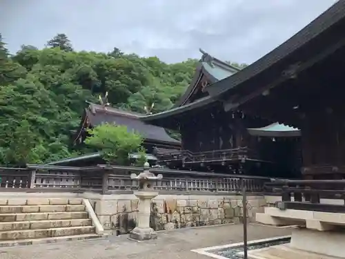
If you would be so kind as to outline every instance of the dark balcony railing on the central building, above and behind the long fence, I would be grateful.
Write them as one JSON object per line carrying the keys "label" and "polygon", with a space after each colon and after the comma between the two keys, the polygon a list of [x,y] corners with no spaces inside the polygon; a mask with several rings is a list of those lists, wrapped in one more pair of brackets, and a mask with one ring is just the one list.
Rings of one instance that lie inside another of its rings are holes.
{"label": "dark balcony railing on the central building, above and behind the long fence", "polygon": [[188,150],[161,152],[157,153],[157,157],[161,162],[178,161],[181,160],[184,163],[195,162],[213,162],[213,161],[229,161],[229,160],[242,160],[247,157],[252,159],[258,159],[259,155],[248,147],[231,148],[217,151],[205,151],[199,153],[193,153]]}

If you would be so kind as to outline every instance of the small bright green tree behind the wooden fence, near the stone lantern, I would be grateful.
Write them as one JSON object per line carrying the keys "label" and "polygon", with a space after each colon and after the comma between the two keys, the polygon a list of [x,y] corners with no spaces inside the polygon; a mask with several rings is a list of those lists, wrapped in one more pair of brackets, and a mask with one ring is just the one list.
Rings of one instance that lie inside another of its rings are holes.
{"label": "small bright green tree behind the wooden fence, near the stone lantern", "polygon": [[[102,124],[88,131],[85,143],[97,148],[104,160],[110,164],[130,164],[130,153],[144,153],[141,135],[128,132],[126,126]],[[142,155],[141,155],[142,156]]]}

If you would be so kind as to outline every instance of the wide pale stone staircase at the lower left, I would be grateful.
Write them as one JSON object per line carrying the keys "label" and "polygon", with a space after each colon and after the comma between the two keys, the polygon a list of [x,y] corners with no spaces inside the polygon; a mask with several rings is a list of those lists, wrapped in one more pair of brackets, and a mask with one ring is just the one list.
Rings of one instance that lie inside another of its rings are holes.
{"label": "wide pale stone staircase at the lower left", "polygon": [[80,198],[0,199],[0,246],[100,237],[84,203]]}

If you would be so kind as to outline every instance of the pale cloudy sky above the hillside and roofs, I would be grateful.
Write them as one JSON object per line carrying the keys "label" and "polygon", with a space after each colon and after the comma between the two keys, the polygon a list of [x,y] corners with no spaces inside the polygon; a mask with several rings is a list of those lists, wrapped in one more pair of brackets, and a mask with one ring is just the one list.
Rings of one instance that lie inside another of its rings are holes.
{"label": "pale cloudy sky above the hillside and roofs", "polygon": [[77,50],[117,47],[166,62],[199,58],[250,64],[336,0],[0,0],[11,52],[65,33]]}

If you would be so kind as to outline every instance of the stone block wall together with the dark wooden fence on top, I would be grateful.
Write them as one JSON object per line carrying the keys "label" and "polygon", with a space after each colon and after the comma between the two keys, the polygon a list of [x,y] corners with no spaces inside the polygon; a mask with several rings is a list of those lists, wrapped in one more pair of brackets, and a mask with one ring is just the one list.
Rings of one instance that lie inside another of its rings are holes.
{"label": "stone block wall together with the dark wooden fence on top", "polygon": [[[26,169],[2,169],[0,192],[49,198],[77,195],[90,201],[104,229],[128,233],[137,224],[139,213],[135,196],[139,184],[130,174],[142,171],[126,166],[28,165]],[[152,190],[158,193],[150,202],[154,230],[239,222],[243,217],[242,184],[248,191],[249,221],[266,206],[262,194],[268,178],[168,169],[150,172],[163,175],[152,180]]]}

